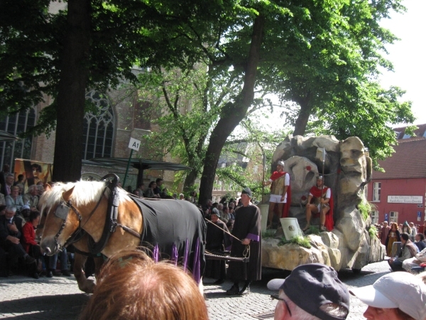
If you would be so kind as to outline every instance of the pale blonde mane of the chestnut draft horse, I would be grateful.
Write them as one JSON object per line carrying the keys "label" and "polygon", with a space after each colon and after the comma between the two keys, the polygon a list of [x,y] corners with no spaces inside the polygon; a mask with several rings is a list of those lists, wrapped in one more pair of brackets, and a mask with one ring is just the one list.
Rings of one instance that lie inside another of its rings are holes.
{"label": "pale blonde mane of the chestnut draft horse", "polygon": [[[52,208],[60,203],[60,201],[63,201],[62,193],[70,190],[72,187],[75,188],[72,191],[71,201],[75,206],[85,206],[89,203],[97,202],[102,197],[104,191],[104,195],[109,197],[111,191],[109,188],[105,190],[105,186],[106,184],[102,181],[58,182],[50,191],[46,191],[40,197],[40,212],[43,212],[45,208]],[[119,188],[119,199],[120,203],[122,201],[131,201],[131,198],[127,196],[126,191],[122,188]]]}

